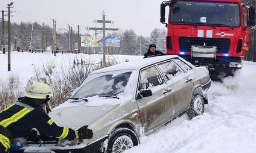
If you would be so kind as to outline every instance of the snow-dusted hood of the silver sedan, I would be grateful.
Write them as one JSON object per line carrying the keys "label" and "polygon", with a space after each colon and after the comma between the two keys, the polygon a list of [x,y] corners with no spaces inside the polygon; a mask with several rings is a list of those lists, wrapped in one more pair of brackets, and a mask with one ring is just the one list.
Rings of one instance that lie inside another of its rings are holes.
{"label": "snow-dusted hood of the silver sedan", "polygon": [[[67,105],[67,102],[64,104]],[[69,104],[70,105],[70,104]],[[117,107],[115,105],[88,106],[84,103],[74,104],[69,107],[59,107],[49,113],[49,116],[58,126],[64,126],[71,129],[79,129],[89,125],[106,112]]]}

